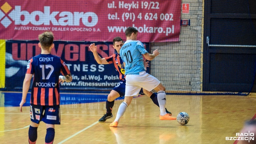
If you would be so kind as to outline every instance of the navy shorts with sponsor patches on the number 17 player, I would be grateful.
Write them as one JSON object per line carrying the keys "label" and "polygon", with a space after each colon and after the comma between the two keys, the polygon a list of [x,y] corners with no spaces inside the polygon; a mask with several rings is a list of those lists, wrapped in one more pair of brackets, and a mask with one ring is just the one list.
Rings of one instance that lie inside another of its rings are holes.
{"label": "navy shorts with sponsor patches on the number 17 player", "polygon": [[30,120],[36,124],[39,124],[40,121],[46,124],[60,124],[60,105],[30,105]]}

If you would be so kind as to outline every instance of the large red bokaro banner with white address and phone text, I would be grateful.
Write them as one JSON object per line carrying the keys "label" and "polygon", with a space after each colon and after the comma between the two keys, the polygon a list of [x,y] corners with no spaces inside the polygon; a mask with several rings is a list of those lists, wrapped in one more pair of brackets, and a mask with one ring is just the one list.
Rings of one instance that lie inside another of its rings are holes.
{"label": "large red bokaro banner with white address and phone text", "polygon": [[132,26],[142,42],[176,42],[181,0],[1,0],[0,39],[111,42]]}

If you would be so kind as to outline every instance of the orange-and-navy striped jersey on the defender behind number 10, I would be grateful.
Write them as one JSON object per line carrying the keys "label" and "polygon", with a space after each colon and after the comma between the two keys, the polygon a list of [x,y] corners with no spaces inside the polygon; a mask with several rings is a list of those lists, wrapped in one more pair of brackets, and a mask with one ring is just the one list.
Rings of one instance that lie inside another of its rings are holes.
{"label": "orange-and-navy striped jersey on the defender behind number 10", "polygon": [[114,64],[116,70],[119,72],[119,79],[125,80],[124,62],[119,54],[113,54],[112,56],[105,58],[109,64]]}

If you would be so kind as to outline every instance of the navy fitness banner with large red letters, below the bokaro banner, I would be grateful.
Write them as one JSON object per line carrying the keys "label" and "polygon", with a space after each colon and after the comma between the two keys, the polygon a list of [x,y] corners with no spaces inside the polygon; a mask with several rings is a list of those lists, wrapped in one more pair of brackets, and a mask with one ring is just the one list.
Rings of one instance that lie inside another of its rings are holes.
{"label": "navy fitness banner with large red letters, below the bokaro banner", "polygon": [[[38,42],[37,40],[6,41],[6,89],[22,89],[28,60],[41,53]],[[94,43],[102,58],[116,53],[112,42]],[[64,60],[73,77],[72,82],[60,84],[62,90],[111,90],[120,81],[114,64],[96,62],[90,51],[90,44],[92,42],[54,41],[54,49],[51,53]],[[144,47],[149,51],[149,43],[144,43]],[[150,68],[147,68],[147,72],[149,70]]]}

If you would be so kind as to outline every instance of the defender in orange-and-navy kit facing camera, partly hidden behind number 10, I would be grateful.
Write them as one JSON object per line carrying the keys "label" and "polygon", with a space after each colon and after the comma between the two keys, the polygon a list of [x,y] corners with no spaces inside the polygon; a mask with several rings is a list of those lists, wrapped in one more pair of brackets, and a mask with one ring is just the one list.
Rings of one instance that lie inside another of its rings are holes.
{"label": "defender in orange-and-navy kit facing camera, partly hidden behind number 10", "polygon": [[[112,114],[112,108],[114,106],[114,100],[118,97],[123,97],[125,94],[125,70],[124,70],[124,63],[122,58],[119,55],[120,48],[123,46],[124,42],[122,38],[115,37],[113,39],[113,48],[116,50],[117,54],[113,54],[112,56],[101,58],[98,55],[97,52],[97,46],[95,44],[90,44],[89,48],[92,51],[95,60],[98,62],[98,64],[114,64],[116,70],[119,72],[119,79],[120,82],[111,90],[110,94],[108,94],[108,99],[106,100],[106,114],[100,118],[99,122],[105,122],[109,118],[113,118]],[[144,61],[145,68],[148,67],[148,62]],[[154,104],[156,104],[159,107],[158,100],[157,100],[157,94],[153,92],[148,92],[147,90],[143,91],[141,90],[140,94],[146,94],[148,97],[152,99]],[[170,115],[172,115],[171,112],[168,112],[166,109],[166,112]]]}

